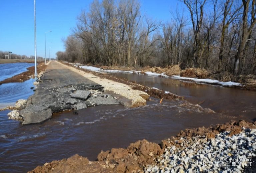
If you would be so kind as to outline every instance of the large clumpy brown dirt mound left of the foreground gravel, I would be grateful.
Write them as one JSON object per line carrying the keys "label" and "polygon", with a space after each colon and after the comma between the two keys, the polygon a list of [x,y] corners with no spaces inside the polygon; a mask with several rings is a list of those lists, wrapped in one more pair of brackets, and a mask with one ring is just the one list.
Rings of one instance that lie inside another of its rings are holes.
{"label": "large clumpy brown dirt mound left of the foreground gravel", "polygon": [[55,160],[37,166],[29,173],[41,172],[143,172],[145,164],[154,163],[156,156],[163,150],[156,143],[140,140],[131,143],[126,149],[113,148],[111,151],[102,151],[98,161],[89,161],[78,154],[68,159]]}

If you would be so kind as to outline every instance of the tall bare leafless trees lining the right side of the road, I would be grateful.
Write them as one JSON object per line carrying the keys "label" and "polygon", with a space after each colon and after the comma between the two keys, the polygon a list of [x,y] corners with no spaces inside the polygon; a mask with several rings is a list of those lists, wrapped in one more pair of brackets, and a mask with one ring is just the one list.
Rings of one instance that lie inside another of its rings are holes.
{"label": "tall bare leafless trees lining the right side of the road", "polygon": [[[170,3],[172,3],[170,1]],[[180,0],[167,23],[137,0],[94,0],[64,41],[59,60],[121,66],[204,68],[256,74],[256,0]]]}

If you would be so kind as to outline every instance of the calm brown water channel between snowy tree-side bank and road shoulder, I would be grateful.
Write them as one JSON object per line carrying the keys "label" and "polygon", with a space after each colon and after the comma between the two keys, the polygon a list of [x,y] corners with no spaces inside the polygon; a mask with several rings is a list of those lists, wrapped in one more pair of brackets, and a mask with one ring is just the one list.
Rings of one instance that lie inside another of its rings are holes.
{"label": "calm brown water channel between snowy tree-side bank and road shoulder", "polygon": [[245,89],[228,88],[192,82],[182,82],[175,79],[151,77],[136,74],[112,74],[116,77],[127,79],[138,84],[156,87],[184,96],[193,104],[227,114],[252,120],[256,112],[256,92]]}

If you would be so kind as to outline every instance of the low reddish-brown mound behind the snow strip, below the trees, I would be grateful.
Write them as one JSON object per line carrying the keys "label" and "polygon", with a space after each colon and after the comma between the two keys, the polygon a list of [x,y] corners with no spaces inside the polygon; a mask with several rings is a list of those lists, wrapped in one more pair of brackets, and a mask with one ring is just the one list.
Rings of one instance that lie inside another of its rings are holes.
{"label": "low reddish-brown mound behind the snow strip, below the trees", "polygon": [[182,77],[189,77],[189,78],[199,78],[204,79],[208,78],[209,72],[205,69],[193,69],[189,68],[180,73],[180,76]]}

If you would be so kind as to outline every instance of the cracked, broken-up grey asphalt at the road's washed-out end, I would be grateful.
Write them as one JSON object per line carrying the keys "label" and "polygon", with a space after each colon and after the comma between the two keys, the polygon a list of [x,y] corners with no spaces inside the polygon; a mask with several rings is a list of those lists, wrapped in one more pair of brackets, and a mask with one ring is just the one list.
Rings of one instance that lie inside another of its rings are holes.
{"label": "cracked, broken-up grey asphalt at the road's washed-out end", "polygon": [[63,90],[65,86],[47,88],[49,93],[42,95],[41,99],[30,97],[27,106],[20,111],[20,115],[23,117],[22,124],[43,122],[50,119],[52,113],[63,110],[79,110],[89,106],[119,104],[110,94],[102,93],[104,90],[100,85],[78,83],[69,84],[69,86],[65,92]]}

